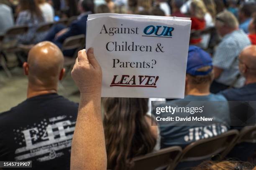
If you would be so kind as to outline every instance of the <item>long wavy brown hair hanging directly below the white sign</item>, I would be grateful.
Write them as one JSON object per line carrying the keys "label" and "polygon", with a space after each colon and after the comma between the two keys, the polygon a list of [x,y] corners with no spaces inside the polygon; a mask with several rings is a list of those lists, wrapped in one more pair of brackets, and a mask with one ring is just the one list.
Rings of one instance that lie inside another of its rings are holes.
{"label": "long wavy brown hair hanging directly below the white sign", "polygon": [[132,158],[150,153],[156,145],[145,117],[148,99],[105,98],[103,106],[108,168],[127,170]]}

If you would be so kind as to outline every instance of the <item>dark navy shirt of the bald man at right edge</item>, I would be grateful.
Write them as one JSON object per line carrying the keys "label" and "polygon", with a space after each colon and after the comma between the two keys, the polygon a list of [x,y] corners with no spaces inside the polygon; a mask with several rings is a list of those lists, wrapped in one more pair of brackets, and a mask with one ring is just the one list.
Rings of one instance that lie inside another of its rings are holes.
{"label": "dark navy shirt of the bald man at right edge", "polygon": [[228,101],[256,101],[256,83],[251,83],[239,89],[227,89],[222,94]]}

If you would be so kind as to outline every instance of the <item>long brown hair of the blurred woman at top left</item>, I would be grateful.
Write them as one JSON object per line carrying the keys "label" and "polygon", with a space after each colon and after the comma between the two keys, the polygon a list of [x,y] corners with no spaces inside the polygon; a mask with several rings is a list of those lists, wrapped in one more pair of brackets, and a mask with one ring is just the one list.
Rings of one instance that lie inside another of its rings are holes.
{"label": "long brown hair of the blurred woman at top left", "polygon": [[20,11],[23,10],[29,10],[32,19],[36,16],[39,20],[44,20],[43,14],[36,0],[20,0]]}

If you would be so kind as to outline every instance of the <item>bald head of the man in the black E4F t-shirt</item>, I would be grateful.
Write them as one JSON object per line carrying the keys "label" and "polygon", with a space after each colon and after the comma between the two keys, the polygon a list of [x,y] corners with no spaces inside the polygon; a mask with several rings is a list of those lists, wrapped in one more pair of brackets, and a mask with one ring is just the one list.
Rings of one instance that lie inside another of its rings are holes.
{"label": "bald head of the man in the black E4F t-shirt", "polygon": [[56,86],[63,72],[64,57],[54,43],[44,41],[36,44],[28,53],[24,63],[25,73],[32,85],[43,87]]}

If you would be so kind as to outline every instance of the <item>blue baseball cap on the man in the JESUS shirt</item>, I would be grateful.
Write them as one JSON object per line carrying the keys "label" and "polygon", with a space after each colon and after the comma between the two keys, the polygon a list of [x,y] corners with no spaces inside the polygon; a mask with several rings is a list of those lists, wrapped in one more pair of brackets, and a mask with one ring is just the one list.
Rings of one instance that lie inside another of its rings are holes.
{"label": "blue baseball cap on the man in the JESUS shirt", "polygon": [[[197,71],[202,67],[210,66],[207,71]],[[202,48],[189,45],[187,56],[187,73],[190,75],[207,75],[212,71],[212,57]]]}

